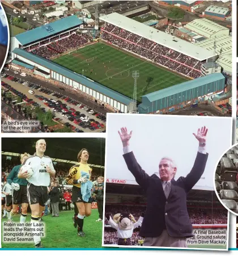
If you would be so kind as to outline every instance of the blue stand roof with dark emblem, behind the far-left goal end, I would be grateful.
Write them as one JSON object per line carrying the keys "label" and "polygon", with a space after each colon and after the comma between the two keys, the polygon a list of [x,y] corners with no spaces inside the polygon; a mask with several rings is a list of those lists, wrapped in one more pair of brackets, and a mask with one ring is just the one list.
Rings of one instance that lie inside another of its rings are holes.
{"label": "blue stand roof with dark emblem, behind the far-left goal end", "polygon": [[52,36],[71,27],[79,26],[82,23],[82,20],[80,20],[76,15],[72,15],[41,27],[33,28],[32,30],[26,31],[22,34],[18,34],[15,38],[24,46],[25,44],[35,42],[41,38],[45,38],[46,36]]}

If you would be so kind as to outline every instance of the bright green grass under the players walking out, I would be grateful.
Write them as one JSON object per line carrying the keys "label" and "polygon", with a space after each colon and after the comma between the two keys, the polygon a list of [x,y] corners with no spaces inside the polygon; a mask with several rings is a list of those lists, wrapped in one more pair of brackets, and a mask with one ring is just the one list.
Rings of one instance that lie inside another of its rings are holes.
{"label": "bright green grass under the players walking out", "polygon": [[[97,209],[92,209],[90,217],[84,219],[83,231],[86,237],[79,237],[77,229],[73,226],[72,217],[74,211],[59,212],[59,217],[43,216],[46,226],[46,236],[41,238],[44,248],[101,248],[101,237],[103,231],[102,222],[96,222],[98,218]],[[30,221],[31,214],[27,214],[27,221]],[[20,215],[14,217],[19,222]],[[3,222],[2,219],[2,248],[34,248],[33,243],[5,243],[3,242]]]}

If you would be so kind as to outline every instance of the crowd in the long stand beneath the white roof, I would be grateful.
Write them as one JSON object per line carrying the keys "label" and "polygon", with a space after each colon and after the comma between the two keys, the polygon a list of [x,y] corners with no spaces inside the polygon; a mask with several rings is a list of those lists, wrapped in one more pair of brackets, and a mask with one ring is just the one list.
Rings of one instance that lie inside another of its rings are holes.
{"label": "crowd in the long stand beneath the white roof", "polygon": [[142,36],[123,30],[120,27],[108,23],[107,26],[103,28],[101,38],[120,48],[145,57],[154,63],[164,65],[164,67],[172,71],[182,73],[182,75],[193,78],[202,76],[201,72],[199,72],[202,65],[201,61],[186,56],[183,53],[173,51],[168,47],[156,44],[151,40],[142,38]]}

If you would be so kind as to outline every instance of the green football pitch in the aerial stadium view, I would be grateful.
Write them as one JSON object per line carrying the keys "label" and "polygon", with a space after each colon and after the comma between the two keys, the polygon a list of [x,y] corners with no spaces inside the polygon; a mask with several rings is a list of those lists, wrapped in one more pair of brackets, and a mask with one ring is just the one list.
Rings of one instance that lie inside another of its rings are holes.
{"label": "green football pitch in the aerial stadium view", "polygon": [[141,101],[142,95],[189,80],[102,42],[85,46],[53,61],[130,98],[134,91],[132,73],[139,71],[138,101]]}

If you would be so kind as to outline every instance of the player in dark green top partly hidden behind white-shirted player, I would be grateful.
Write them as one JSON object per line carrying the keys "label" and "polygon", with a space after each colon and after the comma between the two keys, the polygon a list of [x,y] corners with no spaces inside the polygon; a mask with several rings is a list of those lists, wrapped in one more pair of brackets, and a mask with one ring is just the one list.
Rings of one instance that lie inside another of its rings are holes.
{"label": "player in dark green top partly hidden behind white-shirted player", "polygon": [[[23,163],[29,154],[24,153],[20,162]],[[28,199],[27,199],[27,176],[28,174],[23,174],[22,179],[18,178],[18,173],[22,164],[19,166],[15,166],[12,168],[10,174],[7,177],[7,183],[12,186],[12,209],[10,212],[9,220],[12,221],[12,217],[18,211],[18,205],[22,204],[22,215],[20,216],[20,223],[25,222],[25,218],[27,217],[27,207],[28,207]],[[23,178],[25,177],[25,178]]]}

